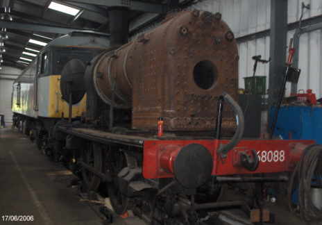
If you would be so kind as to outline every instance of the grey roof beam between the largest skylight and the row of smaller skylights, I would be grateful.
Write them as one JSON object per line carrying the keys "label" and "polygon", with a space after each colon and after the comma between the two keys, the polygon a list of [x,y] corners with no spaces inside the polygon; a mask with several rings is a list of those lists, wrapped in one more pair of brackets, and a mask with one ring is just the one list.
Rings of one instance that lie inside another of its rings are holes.
{"label": "grey roof beam between the largest skylight and the row of smaller skylights", "polygon": [[61,33],[67,34],[72,31],[96,31],[89,28],[73,28],[69,26],[53,26],[50,24],[33,24],[26,22],[15,22],[8,20],[0,20],[0,27],[15,29],[15,30],[26,30],[26,31],[41,31],[46,33]]}

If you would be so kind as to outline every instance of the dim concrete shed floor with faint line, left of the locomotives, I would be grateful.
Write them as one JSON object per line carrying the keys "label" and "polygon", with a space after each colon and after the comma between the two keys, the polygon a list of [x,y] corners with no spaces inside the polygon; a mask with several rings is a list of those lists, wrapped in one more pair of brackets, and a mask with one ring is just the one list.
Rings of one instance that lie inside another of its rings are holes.
{"label": "dim concrete shed floor with faint line, left of the locomotives", "polygon": [[[76,176],[10,127],[0,128],[0,224],[103,224],[99,206],[80,201],[71,188]],[[7,215],[33,216],[33,222],[4,222]],[[113,219],[119,225],[139,221]]]}

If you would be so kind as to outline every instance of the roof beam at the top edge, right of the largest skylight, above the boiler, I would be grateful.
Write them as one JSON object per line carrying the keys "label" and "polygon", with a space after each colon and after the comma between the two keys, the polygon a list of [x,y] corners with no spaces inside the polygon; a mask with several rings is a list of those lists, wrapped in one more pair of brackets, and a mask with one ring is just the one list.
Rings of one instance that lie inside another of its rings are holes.
{"label": "roof beam at the top edge, right of the largest skylight, above the boiler", "polygon": [[[88,3],[88,0],[71,0],[65,2],[77,2],[77,3]],[[166,14],[171,10],[171,6],[162,3],[151,3],[146,1],[122,1],[122,0],[92,0],[91,4],[96,6],[123,6],[128,7],[130,10],[138,10],[142,12],[155,12],[160,14]]]}

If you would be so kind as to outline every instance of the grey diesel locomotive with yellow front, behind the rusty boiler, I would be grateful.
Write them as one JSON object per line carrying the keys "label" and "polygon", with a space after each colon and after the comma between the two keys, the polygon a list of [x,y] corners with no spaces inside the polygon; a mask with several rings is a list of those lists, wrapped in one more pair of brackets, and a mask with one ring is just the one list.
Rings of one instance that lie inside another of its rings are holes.
{"label": "grey diesel locomotive with yellow front, behind the rusty boiler", "polygon": [[[52,40],[13,83],[13,124],[49,151],[53,126],[68,117],[69,105],[61,97],[60,75],[71,59],[86,63],[108,49],[108,36],[91,32],[71,32]],[[73,106],[72,118],[85,112],[86,99]],[[46,144],[48,144],[46,146]]]}

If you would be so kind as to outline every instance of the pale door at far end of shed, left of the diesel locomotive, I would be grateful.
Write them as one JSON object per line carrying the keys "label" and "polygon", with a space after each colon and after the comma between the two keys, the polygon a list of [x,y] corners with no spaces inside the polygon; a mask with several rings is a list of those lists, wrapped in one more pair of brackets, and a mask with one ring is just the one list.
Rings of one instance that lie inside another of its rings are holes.
{"label": "pale door at far end of shed, left of the diesel locomotive", "polygon": [[0,79],[0,114],[6,122],[12,122],[11,92],[13,80]]}

